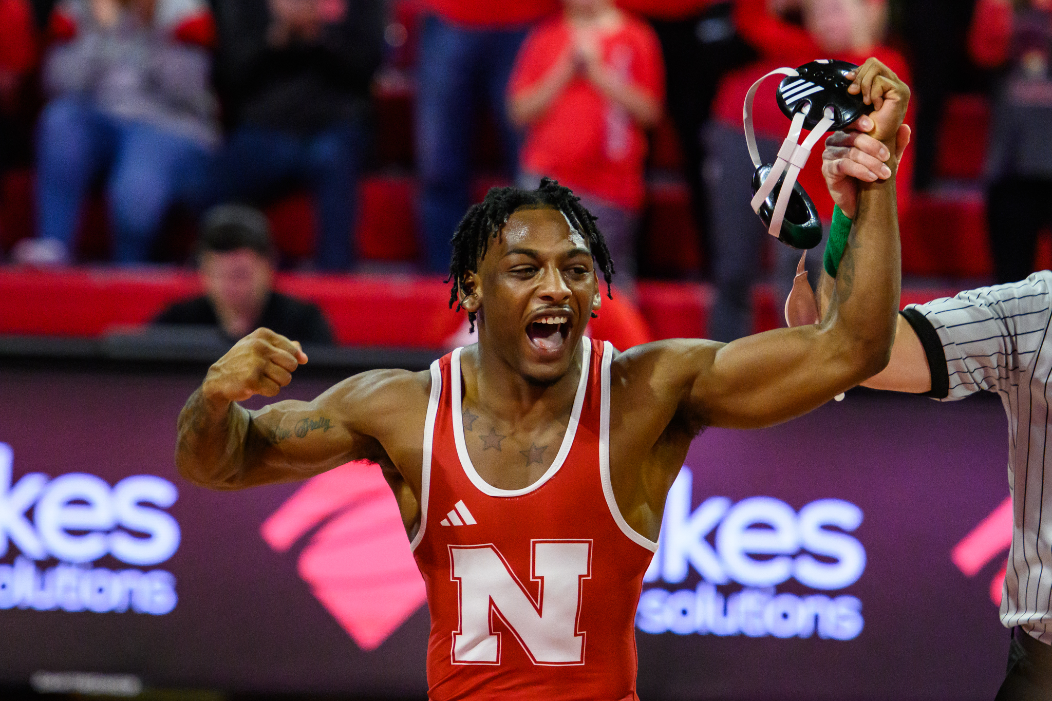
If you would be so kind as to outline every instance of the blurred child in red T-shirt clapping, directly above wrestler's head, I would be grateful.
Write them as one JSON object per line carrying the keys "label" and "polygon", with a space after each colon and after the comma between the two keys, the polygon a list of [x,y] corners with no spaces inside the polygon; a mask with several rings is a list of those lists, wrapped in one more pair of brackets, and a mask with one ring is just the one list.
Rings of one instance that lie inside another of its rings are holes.
{"label": "blurred child in red T-shirt clapping, directly above wrestler's head", "polygon": [[571,188],[599,226],[627,289],[645,197],[644,129],[661,119],[661,46],[612,0],[565,0],[530,33],[515,60],[508,111],[526,127],[523,187],[548,176]]}

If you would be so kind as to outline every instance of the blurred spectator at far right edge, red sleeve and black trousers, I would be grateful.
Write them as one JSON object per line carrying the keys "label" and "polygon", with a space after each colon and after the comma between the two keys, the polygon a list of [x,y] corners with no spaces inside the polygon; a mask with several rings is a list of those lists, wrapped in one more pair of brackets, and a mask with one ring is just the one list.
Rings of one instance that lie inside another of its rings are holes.
{"label": "blurred spectator at far right edge, red sleeve and black trousers", "polygon": [[1009,283],[1033,271],[1037,231],[1052,224],[1052,0],[979,0],[969,47],[976,63],[1005,69],[987,153],[987,221],[995,282]]}

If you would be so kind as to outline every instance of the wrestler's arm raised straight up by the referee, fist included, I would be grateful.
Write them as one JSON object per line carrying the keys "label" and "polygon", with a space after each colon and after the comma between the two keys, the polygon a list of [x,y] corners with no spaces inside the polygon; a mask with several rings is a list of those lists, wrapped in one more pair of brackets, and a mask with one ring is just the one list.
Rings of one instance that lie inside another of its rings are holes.
{"label": "wrestler's arm raised straight up by the referee, fist included", "polygon": [[[874,59],[858,69],[855,84],[876,107],[871,135],[896,153],[909,88]],[[699,422],[753,428],[784,421],[885,367],[899,295],[897,160],[889,158],[888,166],[887,180],[857,184],[854,225],[822,322],[727,345],[671,341],[653,350],[642,347],[641,354],[658,355],[658,375],[683,388],[681,406]]]}

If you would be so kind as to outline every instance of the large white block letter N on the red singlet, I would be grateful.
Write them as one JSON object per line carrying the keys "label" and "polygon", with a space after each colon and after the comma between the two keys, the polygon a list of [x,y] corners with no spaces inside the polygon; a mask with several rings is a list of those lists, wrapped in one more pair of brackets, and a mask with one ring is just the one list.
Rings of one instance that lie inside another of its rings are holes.
{"label": "large white block letter N on the red singlet", "polygon": [[534,664],[584,664],[585,634],[578,631],[581,580],[591,577],[591,540],[533,540],[530,579],[534,601],[492,544],[449,545],[450,578],[460,584],[460,631],[453,664],[500,664],[499,616]]}

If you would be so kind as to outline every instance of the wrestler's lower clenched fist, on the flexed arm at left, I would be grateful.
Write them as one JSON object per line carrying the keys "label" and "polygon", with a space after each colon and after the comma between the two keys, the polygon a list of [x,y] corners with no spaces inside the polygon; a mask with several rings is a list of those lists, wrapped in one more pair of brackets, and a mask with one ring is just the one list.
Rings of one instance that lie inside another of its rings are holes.
{"label": "wrestler's lower clenched fist, on the flexed arm at left", "polygon": [[208,368],[201,392],[208,401],[244,401],[255,394],[272,397],[306,362],[299,342],[270,329],[256,329]]}

